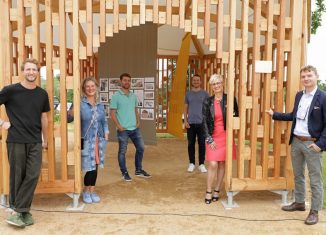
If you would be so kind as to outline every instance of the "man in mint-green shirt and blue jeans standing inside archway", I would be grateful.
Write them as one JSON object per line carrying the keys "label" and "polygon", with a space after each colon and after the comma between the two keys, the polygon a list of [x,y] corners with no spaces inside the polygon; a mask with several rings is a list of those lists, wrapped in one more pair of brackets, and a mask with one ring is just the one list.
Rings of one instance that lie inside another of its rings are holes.
{"label": "man in mint-green shirt and blue jeans standing inside archway", "polygon": [[142,168],[144,155],[144,140],[139,130],[140,120],[137,109],[137,96],[130,92],[131,76],[128,73],[120,75],[121,89],[117,91],[111,99],[111,118],[117,127],[117,137],[119,141],[118,161],[122,178],[131,181],[126,167],[126,152],[128,139],[130,138],[136,148],[135,153],[135,175],[150,178]]}

